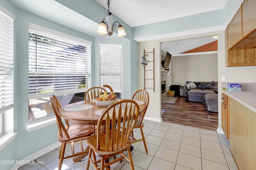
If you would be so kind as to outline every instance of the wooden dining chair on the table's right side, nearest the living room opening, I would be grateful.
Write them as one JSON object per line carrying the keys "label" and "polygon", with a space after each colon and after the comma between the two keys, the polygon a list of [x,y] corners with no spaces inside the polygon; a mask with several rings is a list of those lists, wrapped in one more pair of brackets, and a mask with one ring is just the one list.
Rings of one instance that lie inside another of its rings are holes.
{"label": "wooden dining chair on the table's right side, nearest the living room opening", "polygon": [[144,127],[143,118],[146,114],[146,111],[148,109],[148,103],[149,103],[148,92],[146,90],[139,89],[136,92],[134,92],[134,94],[132,96],[132,100],[140,100],[140,101],[145,103],[145,109],[142,112],[140,112],[140,114],[138,116],[138,120],[137,120],[137,122],[136,122],[136,124],[133,128],[133,129],[138,129],[138,128],[140,129],[142,138],[141,139],[136,139],[134,137],[134,133],[133,133],[133,130],[132,130],[132,134],[131,134],[132,143],[140,142],[140,141],[143,140],[146,153],[148,153],[148,148],[147,148],[147,145],[146,145],[145,136],[144,136],[144,133],[143,133],[143,130],[142,130],[142,128]]}

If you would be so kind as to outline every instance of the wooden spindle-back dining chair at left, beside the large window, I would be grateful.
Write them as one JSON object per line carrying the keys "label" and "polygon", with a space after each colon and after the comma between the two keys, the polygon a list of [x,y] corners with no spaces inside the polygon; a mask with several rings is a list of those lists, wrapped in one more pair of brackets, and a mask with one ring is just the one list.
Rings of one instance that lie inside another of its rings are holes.
{"label": "wooden spindle-back dining chair at left, beside the large window", "polygon": [[[52,109],[54,111],[56,121],[57,121],[58,141],[61,142],[60,154],[59,154],[60,162],[58,167],[58,170],[61,170],[63,159],[88,153],[88,150],[85,151],[83,148],[82,140],[86,140],[88,136],[92,135],[93,129],[92,129],[92,126],[88,126],[88,125],[80,125],[80,124],[69,125],[67,120],[65,120],[66,126],[64,126],[62,122],[62,118],[59,114],[61,105],[54,94],[50,96],[50,102],[52,104]],[[74,142],[80,142],[81,152],[74,153]],[[67,143],[71,143],[72,155],[64,157]]]}

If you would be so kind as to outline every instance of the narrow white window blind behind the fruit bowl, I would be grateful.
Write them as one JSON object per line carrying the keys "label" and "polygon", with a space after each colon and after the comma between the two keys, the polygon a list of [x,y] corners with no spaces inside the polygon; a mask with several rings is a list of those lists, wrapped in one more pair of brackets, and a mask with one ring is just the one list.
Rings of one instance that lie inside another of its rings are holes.
{"label": "narrow white window blind behind the fruit bowl", "polygon": [[122,92],[122,45],[99,44],[100,86],[107,84]]}

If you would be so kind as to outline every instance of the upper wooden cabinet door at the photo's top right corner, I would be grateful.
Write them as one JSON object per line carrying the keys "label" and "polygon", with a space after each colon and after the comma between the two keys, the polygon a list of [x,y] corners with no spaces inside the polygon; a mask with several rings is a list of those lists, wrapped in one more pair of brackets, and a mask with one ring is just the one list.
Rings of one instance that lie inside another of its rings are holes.
{"label": "upper wooden cabinet door at the photo's top right corner", "polygon": [[256,0],[244,0],[242,3],[243,37],[256,28]]}

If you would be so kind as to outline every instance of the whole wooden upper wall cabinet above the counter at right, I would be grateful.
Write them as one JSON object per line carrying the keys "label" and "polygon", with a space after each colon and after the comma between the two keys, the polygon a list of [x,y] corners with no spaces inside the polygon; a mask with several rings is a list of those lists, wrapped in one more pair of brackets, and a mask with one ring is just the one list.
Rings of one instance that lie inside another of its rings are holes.
{"label": "whole wooden upper wall cabinet above the counter at right", "polygon": [[244,0],[228,24],[228,66],[256,66],[256,0]]}

